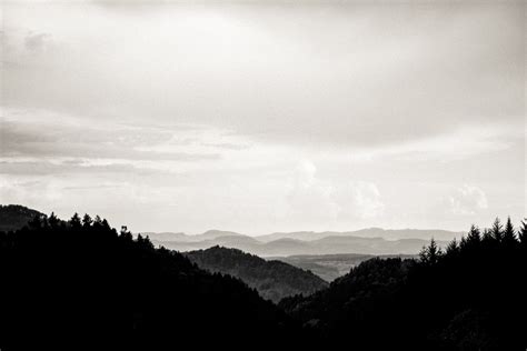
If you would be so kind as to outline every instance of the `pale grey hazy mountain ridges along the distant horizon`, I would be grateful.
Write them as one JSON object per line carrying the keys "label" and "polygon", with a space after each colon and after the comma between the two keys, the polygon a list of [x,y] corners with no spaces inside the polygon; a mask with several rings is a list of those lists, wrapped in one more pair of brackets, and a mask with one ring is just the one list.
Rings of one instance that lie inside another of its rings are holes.
{"label": "pale grey hazy mountain ridges along the distant horizon", "polygon": [[[178,251],[205,250],[220,245],[260,257],[301,254],[416,254],[431,238],[439,245],[459,238],[460,232],[444,230],[384,230],[370,228],[349,232],[284,232],[249,237],[231,231],[209,230],[198,235],[147,232],[155,244]],[[416,239],[419,238],[419,239]]]}

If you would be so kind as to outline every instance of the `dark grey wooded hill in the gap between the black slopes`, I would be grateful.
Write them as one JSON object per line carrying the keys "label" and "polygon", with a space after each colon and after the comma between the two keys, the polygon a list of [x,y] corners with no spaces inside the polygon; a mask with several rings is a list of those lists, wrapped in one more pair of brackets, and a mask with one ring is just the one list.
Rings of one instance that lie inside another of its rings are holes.
{"label": "dark grey wooded hill in the gap between the black slopes", "polygon": [[285,297],[308,295],[328,285],[309,271],[281,261],[266,261],[238,249],[213,247],[183,254],[202,269],[241,279],[262,298],[275,302]]}

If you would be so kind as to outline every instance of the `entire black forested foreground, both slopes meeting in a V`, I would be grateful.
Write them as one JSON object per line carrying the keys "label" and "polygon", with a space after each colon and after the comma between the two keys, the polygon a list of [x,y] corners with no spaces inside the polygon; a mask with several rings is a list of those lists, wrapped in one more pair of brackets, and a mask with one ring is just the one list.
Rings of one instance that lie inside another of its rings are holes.
{"label": "entire black forested foreground, both slopes meeting in a V", "polygon": [[99,218],[0,232],[0,348],[525,350],[527,225],[372,259],[278,307]]}

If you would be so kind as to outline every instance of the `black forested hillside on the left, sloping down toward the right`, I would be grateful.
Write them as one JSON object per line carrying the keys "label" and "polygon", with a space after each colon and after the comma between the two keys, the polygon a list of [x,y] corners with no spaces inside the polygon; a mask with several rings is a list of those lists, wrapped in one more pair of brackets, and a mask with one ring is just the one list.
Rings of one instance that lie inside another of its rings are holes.
{"label": "black forested hillside on the left, sloping down toward the right", "polygon": [[71,349],[106,349],[110,337],[143,350],[295,338],[286,314],[240,280],[118,233],[99,217],[37,217],[0,232],[0,281],[2,350],[54,349],[69,338]]}

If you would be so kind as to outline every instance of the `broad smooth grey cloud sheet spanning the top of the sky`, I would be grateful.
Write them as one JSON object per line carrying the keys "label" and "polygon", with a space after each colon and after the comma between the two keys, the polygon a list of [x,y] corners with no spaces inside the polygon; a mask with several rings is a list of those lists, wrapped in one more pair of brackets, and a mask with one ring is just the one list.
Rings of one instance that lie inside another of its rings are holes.
{"label": "broad smooth grey cloud sheet spanning the top of the sky", "polygon": [[459,124],[523,123],[523,10],[455,7],[171,4],[137,17],[7,7],[7,37],[41,28],[20,46],[68,44],[6,53],[27,66],[3,69],[3,99],[317,147],[392,147]]}

